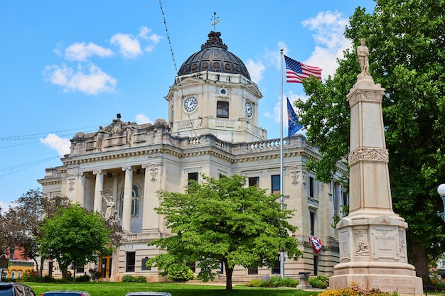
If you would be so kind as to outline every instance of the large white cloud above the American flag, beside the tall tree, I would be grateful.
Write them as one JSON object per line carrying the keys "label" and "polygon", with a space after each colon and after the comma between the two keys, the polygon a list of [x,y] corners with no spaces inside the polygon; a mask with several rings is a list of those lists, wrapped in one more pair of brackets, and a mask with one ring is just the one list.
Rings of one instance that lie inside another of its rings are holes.
{"label": "large white cloud above the American flag, beside the tall tree", "polygon": [[343,57],[343,50],[351,48],[351,43],[343,33],[348,25],[348,18],[345,18],[338,11],[321,11],[317,16],[308,18],[302,25],[314,31],[313,40],[316,48],[311,57],[304,61],[305,64],[321,67],[322,77],[326,79],[328,75],[336,72],[337,58]]}

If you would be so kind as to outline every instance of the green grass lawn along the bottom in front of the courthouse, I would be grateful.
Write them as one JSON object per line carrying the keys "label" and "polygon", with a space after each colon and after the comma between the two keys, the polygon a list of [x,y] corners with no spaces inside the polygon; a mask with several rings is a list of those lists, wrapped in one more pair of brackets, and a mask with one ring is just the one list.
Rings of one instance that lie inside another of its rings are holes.
{"label": "green grass lawn along the bottom in front of the courthouse", "polygon": [[124,296],[134,291],[163,291],[172,296],[236,295],[236,296],[316,296],[316,291],[296,290],[295,288],[259,288],[244,285],[232,286],[226,291],[223,285],[195,285],[179,283],[25,283],[33,288],[36,296],[50,290],[83,290],[91,296]]}

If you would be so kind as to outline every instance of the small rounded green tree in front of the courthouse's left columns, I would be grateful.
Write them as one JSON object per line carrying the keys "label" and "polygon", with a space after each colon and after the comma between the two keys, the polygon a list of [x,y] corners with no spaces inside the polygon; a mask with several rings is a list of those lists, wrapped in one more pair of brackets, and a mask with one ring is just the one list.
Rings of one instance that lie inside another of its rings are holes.
{"label": "small rounded green tree in front of the courthouse's left columns", "polygon": [[[60,208],[45,218],[38,238],[41,255],[55,258],[66,273],[68,268],[97,262],[100,253],[109,248],[112,231],[98,212],[89,212],[80,204]],[[73,277],[73,281],[75,277]]]}

